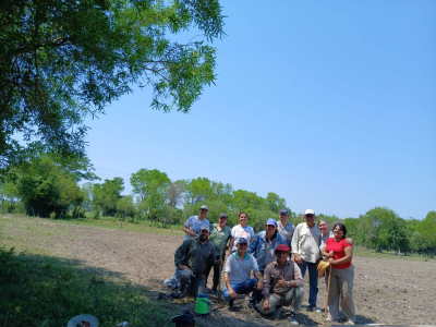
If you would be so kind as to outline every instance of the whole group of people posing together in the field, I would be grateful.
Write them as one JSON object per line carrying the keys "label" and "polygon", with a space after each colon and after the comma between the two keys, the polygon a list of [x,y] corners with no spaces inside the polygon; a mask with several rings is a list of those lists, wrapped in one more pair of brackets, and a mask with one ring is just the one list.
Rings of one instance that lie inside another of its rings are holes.
{"label": "whole group of people posing together in the field", "polygon": [[[339,318],[339,304],[350,325],[355,313],[352,296],[354,268],[352,240],[347,239],[347,228],[337,223],[331,231],[327,222],[315,223],[314,210],[304,213],[305,222],[294,227],[289,211],[283,208],[279,219],[269,218],[265,230],[254,233],[247,225],[249,215],[239,214],[240,223],[230,229],[228,216],[219,215],[217,223],[207,219],[208,207],[203,205],[198,215],[190,217],[183,226],[185,238],[174,254],[179,294],[194,296],[206,293],[208,275],[214,267],[210,292],[217,294],[220,267],[223,267],[222,296],[233,308],[238,295],[250,296],[249,307],[264,315],[280,316],[283,306],[290,306],[289,320],[298,325],[296,314],[304,298],[304,276],[308,270],[308,311],[318,311],[317,265],[323,258],[331,265],[328,290],[327,322]],[[227,255],[227,259],[226,259]],[[252,278],[252,271],[254,277]],[[327,281],[326,275],[326,281]],[[165,283],[173,284],[174,280]],[[327,282],[326,282],[327,286]]]}

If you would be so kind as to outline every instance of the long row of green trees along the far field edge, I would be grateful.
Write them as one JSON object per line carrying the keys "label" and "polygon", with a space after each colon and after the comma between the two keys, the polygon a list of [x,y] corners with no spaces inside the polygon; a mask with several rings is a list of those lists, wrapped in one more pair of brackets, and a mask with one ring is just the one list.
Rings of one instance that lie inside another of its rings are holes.
{"label": "long row of green trees along the far field edge", "polygon": [[[80,184],[82,180],[88,182]],[[229,225],[238,225],[238,214],[244,210],[256,231],[264,228],[267,218],[278,217],[283,207],[289,209],[292,223],[304,221],[303,214],[293,213],[286,199],[274,192],[263,197],[207,178],[171,180],[166,172],[143,168],[131,174],[131,195],[122,195],[124,180],[120,177],[97,180],[87,158],[66,160],[44,154],[10,168],[2,175],[2,209],[51,218],[109,216],[120,219],[121,223],[124,219],[149,220],[167,227],[183,223],[202,204],[207,204],[211,222],[225,211],[229,215]],[[340,219],[320,214],[319,219],[325,219],[330,227],[343,222],[348,235],[366,249],[436,253],[436,211],[419,220],[403,219],[389,208],[375,207],[359,218]]]}

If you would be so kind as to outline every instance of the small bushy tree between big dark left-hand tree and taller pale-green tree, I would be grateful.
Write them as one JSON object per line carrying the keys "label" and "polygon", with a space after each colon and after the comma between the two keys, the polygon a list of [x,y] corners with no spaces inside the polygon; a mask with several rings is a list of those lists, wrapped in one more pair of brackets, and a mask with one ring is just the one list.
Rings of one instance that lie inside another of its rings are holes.
{"label": "small bushy tree between big dark left-hand tree and taller pale-green tree", "polygon": [[122,178],[105,180],[104,183],[93,185],[93,209],[96,216],[100,213],[113,216],[117,213],[117,203],[121,199],[121,192],[124,190]]}

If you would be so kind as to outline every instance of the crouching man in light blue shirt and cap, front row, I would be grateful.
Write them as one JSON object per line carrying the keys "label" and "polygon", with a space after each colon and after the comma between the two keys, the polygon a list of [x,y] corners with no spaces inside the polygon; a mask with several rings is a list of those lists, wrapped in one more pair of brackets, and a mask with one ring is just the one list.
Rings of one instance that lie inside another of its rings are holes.
{"label": "crouching man in light blue shirt and cap, front row", "polygon": [[[247,294],[253,291],[257,284],[257,289],[262,290],[262,274],[258,271],[257,262],[253,255],[247,254],[249,241],[241,238],[237,244],[237,252],[231,254],[225,265],[225,283],[222,296],[229,301],[229,308],[233,307],[234,299],[238,294]],[[256,278],[251,277],[253,270]],[[250,307],[254,307],[254,299],[250,299]]]}

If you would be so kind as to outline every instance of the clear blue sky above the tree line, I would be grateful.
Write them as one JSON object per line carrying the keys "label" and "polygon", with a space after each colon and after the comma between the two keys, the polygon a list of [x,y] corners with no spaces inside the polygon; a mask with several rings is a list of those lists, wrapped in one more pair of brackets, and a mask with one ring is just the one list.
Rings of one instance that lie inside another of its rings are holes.
{"label": "clear blue sky above the tree line", "polygon": [[189,114],[137,89],[89,121],[99,177],[205,177],[340,218],[436,209],[434,1],[221,4],[216,86]]}

